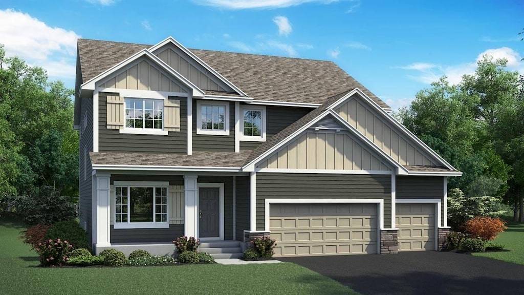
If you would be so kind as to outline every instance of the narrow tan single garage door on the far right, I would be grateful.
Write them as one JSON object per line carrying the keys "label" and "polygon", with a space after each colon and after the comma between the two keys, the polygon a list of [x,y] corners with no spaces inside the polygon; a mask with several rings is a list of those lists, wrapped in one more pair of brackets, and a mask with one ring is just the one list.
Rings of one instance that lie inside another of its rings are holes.
{"label": "narrow tan single garage door on the far right", "polygon": [[397,203],[399,251],[435,249],[435,206]]}

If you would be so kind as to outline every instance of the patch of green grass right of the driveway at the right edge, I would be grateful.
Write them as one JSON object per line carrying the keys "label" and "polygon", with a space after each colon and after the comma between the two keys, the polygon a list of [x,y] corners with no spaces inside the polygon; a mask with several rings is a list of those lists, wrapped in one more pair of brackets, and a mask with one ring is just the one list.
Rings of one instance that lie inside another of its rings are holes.
{"label": "patch of green grass right of the driveway at the right edge", "polygon": [[524,265],[524,224],[509,222],[507,227],[508,229],[493,241],[504,245],[503,251],[473,253],[473,255]]}

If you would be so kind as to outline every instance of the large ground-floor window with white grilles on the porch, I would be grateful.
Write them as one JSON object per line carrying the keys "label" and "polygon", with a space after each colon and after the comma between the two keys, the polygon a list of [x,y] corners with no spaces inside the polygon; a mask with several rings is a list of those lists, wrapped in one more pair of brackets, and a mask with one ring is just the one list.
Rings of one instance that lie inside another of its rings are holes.
{"label": "large ground-floor window with white grilles on the porch", "polygon": [[117,185],[115,228],[169,227],[168,184]]}

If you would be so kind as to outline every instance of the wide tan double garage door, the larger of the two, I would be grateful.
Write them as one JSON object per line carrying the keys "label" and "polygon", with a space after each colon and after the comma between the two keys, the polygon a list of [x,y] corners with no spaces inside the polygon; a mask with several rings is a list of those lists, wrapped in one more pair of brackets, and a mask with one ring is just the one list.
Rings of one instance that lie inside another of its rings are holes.
{"label": "wide tan double garage door, the larger of the two", "polygon": [[275,256],[374,254],[376,204],[271,204]]}

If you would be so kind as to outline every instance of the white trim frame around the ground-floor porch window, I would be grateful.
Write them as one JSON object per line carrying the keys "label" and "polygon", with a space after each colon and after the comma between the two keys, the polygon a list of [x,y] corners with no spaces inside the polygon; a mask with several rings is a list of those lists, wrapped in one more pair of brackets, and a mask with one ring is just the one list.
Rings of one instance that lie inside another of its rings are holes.
{"label": "white trim frame around the ground-floor porch window", "polygon": [[[150,187],[150,186],[162,186],[167,188],[167,221],[166,222],[135,222],[131,223],[118,223],[116,222],[116,187],[120,186],[133,186],[133,187]],[[114,229],[123,229],[123,228],[169,228],[169,182],[153,182],[153,181],[115,181],[113,183],[113,187],[115,187],[114,192],[112,192],[113,202],[112,206],[115,208],[113,213],[113,228]]]}

